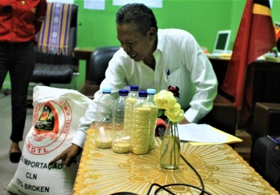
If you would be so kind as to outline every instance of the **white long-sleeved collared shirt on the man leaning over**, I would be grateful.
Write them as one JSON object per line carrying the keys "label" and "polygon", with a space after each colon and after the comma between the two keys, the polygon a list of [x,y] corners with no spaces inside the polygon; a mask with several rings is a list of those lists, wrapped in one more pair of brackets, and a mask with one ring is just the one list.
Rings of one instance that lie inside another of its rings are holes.
{"label": "white long-sleeved collared shirt on the man leaning over", "polygon": [[[112,95],[117,99],[118,91],[130,85],[138,85],[139,90],[148,88],[168,89],[168,86],[179,87],[180,98],[177,102],[189,122],[198,122],[213,107],[217,94],[218,81],[211,62],[198,45],[195,38],[181,29],[159,29],[158,47],[153,53],[155,70],[144,64],[135,62],[123,48],[113,56],[106,70],[106,78],[102,81],[94,100],[80,119],[76,136],[72,143],[83,147],[86,130],[95,121],[97,100],[102,95],[103,87],[111,87]],[[169,74],[167,73],[169,72]]]}

